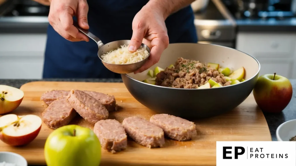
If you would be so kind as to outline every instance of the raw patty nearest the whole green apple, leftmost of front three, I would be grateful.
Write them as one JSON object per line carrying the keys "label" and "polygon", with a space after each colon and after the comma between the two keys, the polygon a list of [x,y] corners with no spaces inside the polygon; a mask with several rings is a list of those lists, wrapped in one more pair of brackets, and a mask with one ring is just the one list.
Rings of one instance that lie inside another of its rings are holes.
{"label": "raw patty nearest the whole green apple, leftmost of front three", "polygon": [[101,146],[114,153],[127,147],[127,136],[123,126],[115,119],[98,121],[94,125],[94,133],[99,138]]}

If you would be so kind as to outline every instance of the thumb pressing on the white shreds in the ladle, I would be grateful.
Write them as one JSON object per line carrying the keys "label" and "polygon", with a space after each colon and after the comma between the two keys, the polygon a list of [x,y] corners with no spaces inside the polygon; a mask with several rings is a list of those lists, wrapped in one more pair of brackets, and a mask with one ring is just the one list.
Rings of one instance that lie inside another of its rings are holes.
{"label": "thumb pressing on the white shreds in the ladle", "polygon": [[131,37],[131,42],[128,45],[128,51],[134,53],[141,46],[142,40],[145,36],[145,27],[138,26],[137,28],[133,28],[133,35]]}

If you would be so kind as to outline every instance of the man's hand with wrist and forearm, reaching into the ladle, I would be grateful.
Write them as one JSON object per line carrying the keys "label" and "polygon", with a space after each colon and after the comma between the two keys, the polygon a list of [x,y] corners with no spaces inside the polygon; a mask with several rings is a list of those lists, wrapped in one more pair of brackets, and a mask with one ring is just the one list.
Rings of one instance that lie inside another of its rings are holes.
{"label": "man's hand with wrist and forearm, reaching into the ladle", "polygon": [[172,13],[191,4],[194,0],[150,0],[133,19],[133,36],[128,45],[135,52],[142,43],[150,48],[148,61],[135,72],[143,72],[156,64],[168,47],[169,38],[165,19]]}

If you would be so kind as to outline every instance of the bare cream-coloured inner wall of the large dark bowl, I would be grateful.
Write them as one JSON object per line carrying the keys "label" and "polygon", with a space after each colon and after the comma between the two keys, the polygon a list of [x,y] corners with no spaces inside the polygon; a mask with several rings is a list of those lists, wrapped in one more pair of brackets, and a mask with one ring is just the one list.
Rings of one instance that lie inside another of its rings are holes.
{"label": "bare cream-coloured inner wall of the large dark bowl", "polygon": [[[160,61],[150,67],[150,69],[154,70],[156,66],[165,69],[170,64],[175,64],[177,58],[181,57],[200,61],[201,63],[218,63],[222,68],[228,67],[233,71],[243,66],[245,68],[245,80],[254,77],[260,69],[258,61],[246,53],[219,45],[200,43],[169,44],[168,48],[163,52]],[[130,73],[127,75],[142,81],[149,78],[147,76],[148,70],[138,74]]]}

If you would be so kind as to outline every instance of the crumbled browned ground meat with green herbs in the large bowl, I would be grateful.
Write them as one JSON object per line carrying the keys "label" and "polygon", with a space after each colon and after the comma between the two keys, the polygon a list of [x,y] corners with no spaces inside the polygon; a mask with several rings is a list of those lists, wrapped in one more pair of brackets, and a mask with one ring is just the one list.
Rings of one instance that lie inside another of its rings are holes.
{"label": "crumbled browned ground meat with green herbs in the large bowl", "polygon": [[216,69],[209,68],[200,61],[193,61],[178,58],[174,68],[166,68],[156,75],[156,85],[173,88],[198,88],[209,79],[220,83],[223,86],[230,85],[231,81],[226,81],[223,74]]}

